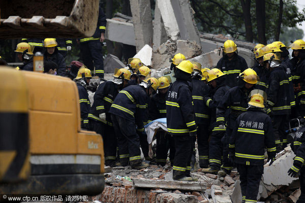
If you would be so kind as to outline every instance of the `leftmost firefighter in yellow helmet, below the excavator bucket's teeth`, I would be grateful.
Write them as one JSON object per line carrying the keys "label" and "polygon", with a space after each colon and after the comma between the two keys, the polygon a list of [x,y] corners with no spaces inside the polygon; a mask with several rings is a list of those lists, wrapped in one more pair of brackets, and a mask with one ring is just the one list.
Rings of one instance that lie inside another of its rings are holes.
{"label": "leftmost firefighter in yellow helmet, below the excavator bucket's teeth", "polygon": [[22,66],[16,68],[17,70],[33,71],[33,51],[34,46],[25,42],[17,44],[15,52],[18,59],[23,62]]}

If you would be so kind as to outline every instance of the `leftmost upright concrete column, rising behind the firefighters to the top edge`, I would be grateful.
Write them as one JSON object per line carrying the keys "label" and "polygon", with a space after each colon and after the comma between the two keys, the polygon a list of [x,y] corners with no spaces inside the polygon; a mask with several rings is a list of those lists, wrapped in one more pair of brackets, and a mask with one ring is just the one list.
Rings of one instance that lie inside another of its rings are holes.
{"label": "leftmost upright concrete column, rising behind the firefighters to the top edge", "polygon": [[149,0],[130,0],[137,52],[153,42],[153,20]]}

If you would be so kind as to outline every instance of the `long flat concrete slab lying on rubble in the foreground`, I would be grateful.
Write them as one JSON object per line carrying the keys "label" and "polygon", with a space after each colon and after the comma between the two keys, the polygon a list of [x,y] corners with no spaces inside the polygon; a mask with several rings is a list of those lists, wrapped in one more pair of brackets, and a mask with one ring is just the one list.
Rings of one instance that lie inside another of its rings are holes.
{"label": "long flat concrete slab lying on rubble in the foreground", "polygon": [[140,188],[162,188],[162,189],[194,190],[194,191],[204,191],[205,189],[205,185],[200,182],[166,181],[166,180],[149,180],[149,179],[133,179],[133,186]]}

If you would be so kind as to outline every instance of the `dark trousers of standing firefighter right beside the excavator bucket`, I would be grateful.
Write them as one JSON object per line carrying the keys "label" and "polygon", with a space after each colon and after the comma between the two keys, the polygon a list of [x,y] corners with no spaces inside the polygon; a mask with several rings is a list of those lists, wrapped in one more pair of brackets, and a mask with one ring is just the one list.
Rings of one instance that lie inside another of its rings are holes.
{"label": "dark trousers of standing firefighter right beside the excavator bucket", "polygon": [[84,64],[91,71],[96,68],[96,76],[104,78],[103,47],[99,40],[80,43],[80,52]]}

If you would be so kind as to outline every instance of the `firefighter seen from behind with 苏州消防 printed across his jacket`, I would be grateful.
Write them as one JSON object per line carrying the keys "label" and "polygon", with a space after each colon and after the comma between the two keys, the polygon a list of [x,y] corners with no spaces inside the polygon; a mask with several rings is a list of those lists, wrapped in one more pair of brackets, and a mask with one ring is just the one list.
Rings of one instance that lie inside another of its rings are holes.
{"label": "firefighter seen from behind with \u82cf\u5dde\u6d88\u9632 printed across his jacket", "polygon": [[269,165],[276,156],[272,121],[263,111],[265,92],[253,90],[247,112],[239,115],[230,138],[229,160],[237,164],[243,202],[256,202],[259,183],[264,172],[264,149]]}

